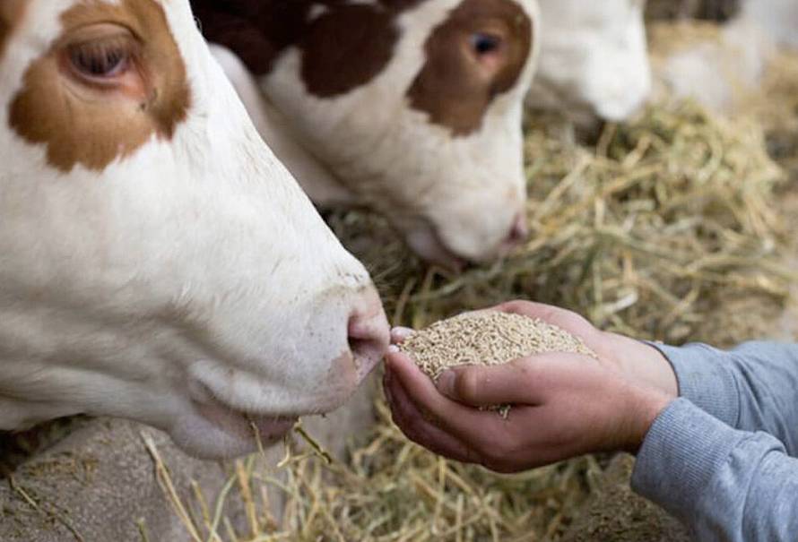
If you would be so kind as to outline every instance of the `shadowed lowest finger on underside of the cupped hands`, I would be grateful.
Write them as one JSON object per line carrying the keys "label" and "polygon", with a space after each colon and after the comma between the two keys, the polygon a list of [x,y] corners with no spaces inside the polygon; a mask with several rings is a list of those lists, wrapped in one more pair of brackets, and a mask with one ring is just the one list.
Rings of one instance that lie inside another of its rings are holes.
{"label": "shadowed lowest finger on underside of the cupped hands", "polygon": [[463,463],[479,462],[477,454],[468,446],[424,418],[423,413],[403,390],[401,383],[394,380],[389,386],[394,423],[412,442],[449,459]]}

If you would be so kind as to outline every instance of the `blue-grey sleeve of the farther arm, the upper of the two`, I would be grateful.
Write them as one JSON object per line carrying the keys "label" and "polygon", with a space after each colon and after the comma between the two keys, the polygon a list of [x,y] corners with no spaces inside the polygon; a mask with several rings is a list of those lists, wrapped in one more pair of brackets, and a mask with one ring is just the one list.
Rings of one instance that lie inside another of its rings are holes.
{"label": "blue-grey sleeve of the farther arm, the upper of the two", "polygon": [[798,345],[653,346],[671,362],[681,397],[735,429],[772,434],[798,454]]}

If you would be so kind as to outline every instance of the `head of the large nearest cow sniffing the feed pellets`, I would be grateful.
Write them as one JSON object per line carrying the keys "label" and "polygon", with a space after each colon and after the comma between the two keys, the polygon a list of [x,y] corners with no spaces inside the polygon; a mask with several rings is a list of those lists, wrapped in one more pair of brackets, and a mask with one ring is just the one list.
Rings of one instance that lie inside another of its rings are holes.
{"label": "head of the large nearest cow sniffing the feed pellets", "polygon": [[386,346],[188,0],[0,0],[0,429],[85,412],[235,455]]}

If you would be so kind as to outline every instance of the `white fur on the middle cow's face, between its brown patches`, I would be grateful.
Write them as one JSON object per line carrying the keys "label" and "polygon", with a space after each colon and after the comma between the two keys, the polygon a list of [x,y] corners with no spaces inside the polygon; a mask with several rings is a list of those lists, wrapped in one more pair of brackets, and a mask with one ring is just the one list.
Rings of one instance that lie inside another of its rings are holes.
{"label": "white fur on the middle cow's face, between its brown patches", "polygon": [[[390,63],[373,81],[343,96],[319,99],[305,89],[297,48],[282,54],[261,85],[266,99],[291,119],[300,144],[337,179],[319,183],[286,159],[315,202],[381,211],[430,259],[446,261],[448,254],[441,253],[453,253],[486,261],[499,254],[514,219],[524,212],[521,116],[538,44],[516,87],[494,100],[481,129],[454,137],[412,109],[406,94],[426,62],[427,39],[460,1],[429,0],[403,13]],[[538,20],[534,0],[518,4]],[[246,81],[240,73],[233,79],[237,86]],[[260,107],[245,103],[250,113]],[[273,137],[265,133],[267,141]]]}

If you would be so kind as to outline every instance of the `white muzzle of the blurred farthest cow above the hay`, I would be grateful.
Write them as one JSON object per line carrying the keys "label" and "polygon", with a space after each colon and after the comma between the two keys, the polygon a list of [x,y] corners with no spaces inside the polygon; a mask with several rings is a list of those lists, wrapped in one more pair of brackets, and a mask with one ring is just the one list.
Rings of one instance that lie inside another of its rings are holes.
{"label": "white muzzle of the blurred farthest cow above the hay", "polygon": [[541,61],[526,99],[579,124],[627,119],[652,89],[645,0],[539,0]]}

